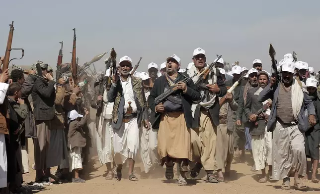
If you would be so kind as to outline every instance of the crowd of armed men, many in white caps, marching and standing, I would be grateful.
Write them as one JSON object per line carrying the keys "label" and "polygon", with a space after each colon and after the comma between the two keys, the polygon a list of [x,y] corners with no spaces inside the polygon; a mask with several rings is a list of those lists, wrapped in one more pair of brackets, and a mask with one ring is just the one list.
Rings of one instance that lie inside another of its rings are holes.
{"label": "crowd of armed men, many in white caps, marching and standing", "polygon": [[[282,179],[281,188],[288,190],[294,177],[294,186],[305,190],[302,179],[308,174],[319,183],[320,93],[314,68],[286,54],[278,63],[281,76],[263,70],[259,59],[251,69],[234,65],[226,72],[223,58],[217,58],[199,85],[209,64],[202,48],[192,56],[186,69],[173,54],[160,68],[150,63],[148,73],[133,74],[131,58],[123,56],[118,76],[110,78],[110,88],[103,82],[103,91],[101,82],[85,73],[79,82],[89,80],[92,90],[89,85],[74,86],[72,77],[54,80],[52,68],[42,61],[36,64],[43,79],[34,76],[34,66],[26,79],[18,69],[10,76],[2,72],[1,193],[21,187],[27,171],[21,153],[28,138],[34,143],[36,182],[85,182],[92,146],[89,106],[97,109],[94,142],[101,165],[106,165],[106,180],[121,181],[127,163],[128,179],[138,181],[134,166],[139,158],[146,173],[165,165],[168,180],[174,178],[176,164],[179,186],[187,185],[187,174],[196,178],[202,168],[206,182],[224,182],[232,176],[232,160],[243,159],[247,149],[254,162],[251,170],[261,171],[259,183]],[[70,72],[63,69],[65,75]],[[104,72],[106,80],[110,71]],[[168,95],[163,98],[164,93]],[[307,166],[307,158],[312,166]],[[59,176],[51,174],[55,166]]]}

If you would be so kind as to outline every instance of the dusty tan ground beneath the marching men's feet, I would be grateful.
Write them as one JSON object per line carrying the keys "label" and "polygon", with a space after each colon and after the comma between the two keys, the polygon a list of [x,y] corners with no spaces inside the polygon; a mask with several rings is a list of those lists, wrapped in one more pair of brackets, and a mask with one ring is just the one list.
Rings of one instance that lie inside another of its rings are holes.
{"label": "dusty tan ground beneath the marching men's feet", "polygon": [[[249,157],[249,155],[247,155]],[[29,166],[30,173],[24,174],[23,179],[26,182],[34,181],[35,171],[31,168],[34,162],[32,142],[29,141]],[[204,182],[205,173],[202,172],[199,176],[202,180],[188,180],[189,186],[179,187],[176,180],[166,181],[164,178],[164,169],[159,168],[151,172],[151,175],[146,175],[142,164],[137,163],[135,173],[140,178],[137,182],[128,180],[128,168],[123,169],[123,178],[121,182],[115,180],[105,180],[105,166],[100,166],[97,157],[92,157],[92,168],[89,178],[86,183],[67,183],[61,185],[46,186],[44,190],[33,191],[40,194],[299,194],[301,191],[294,189],[289,191],[281,190],[282,181],[276,183],[257,183],[258,172],[251,172],[251,166],[247,163],[232,164],[232,180],[227,183],[208,184]],[[175,170],[176,172],[176,170]],[[175,174],[175,178],[177,174]],[[198,178],[199,178],[198,177]],[[320,177],[318,177],[320,179]],[[293,181],[293,180],[292,180]],[[293,184],[293,182],[292,182]],[[308,194],[319,194],[320,184],[314,184],[306,181],[305,184],[309,187]]]}

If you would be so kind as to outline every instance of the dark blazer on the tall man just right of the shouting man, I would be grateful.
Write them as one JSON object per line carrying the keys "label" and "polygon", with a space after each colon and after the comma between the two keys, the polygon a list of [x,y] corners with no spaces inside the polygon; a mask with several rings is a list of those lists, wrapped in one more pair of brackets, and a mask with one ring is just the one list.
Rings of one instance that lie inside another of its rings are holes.
{"label": "dark blazer on the tall man just right of the shouting man", "polygon": [[[209,113],[212,119],[212,122],[215,126],[219,125],[219,111],[220,111],[220,104],[219,104],[219,97],[224,97],[227,94],[227,87],[222,80],[222,77],[220,75],[220,71],[216,70],[216,76],[217,76],[217,84],[220,88],[219,94],[216,96],[215,103],[209,108]],[[200,126],[200,108],[201,105],[198,105],[195,113],[194,113],[194,123],[192,123],[192,128],[199,128]]]}

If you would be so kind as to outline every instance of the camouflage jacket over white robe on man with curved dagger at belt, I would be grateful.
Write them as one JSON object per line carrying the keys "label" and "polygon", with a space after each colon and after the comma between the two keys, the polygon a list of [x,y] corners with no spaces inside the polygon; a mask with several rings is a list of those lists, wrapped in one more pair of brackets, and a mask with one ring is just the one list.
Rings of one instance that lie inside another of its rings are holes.
{"label": "camouflage jacket over white robe on man with curved dagger at belt", "polygon": [[[134,98],[137,105],[137,122],[138,127],[143,126],[142,122],[145,119],[148,119],[148,106],[143,91],[142,80],[141,78],[131,77],[131,84],[134,93]],[[120,78],[118,79],[117,84],[112,83],[111,88],[108,92],[108,101],[114,102],[113,113],[112,113],[112,127],[114,129],[120,129],[122,125],[122,119],[124,114],[124,94],[123,89],[120,83]]]}

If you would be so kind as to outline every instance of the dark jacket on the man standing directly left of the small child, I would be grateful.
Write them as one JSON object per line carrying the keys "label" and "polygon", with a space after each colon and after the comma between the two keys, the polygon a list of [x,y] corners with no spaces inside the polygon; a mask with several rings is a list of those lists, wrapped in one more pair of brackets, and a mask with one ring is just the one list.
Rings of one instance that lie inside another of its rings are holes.
{"label": "dark jacket on the man standing directly left of the small child", "polygon": [[34,119],[48,121],[55,115],[56,91],[54,81],[36,79],[32,89]]}

